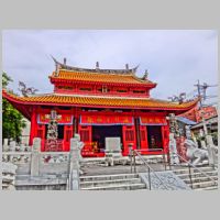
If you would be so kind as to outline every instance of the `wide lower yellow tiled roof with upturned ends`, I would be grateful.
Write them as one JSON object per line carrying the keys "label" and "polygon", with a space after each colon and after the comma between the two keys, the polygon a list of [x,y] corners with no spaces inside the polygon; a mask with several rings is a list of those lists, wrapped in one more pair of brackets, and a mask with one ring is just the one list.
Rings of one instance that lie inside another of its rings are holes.
{"label": "wide lower yellow tiled roof with upturned ends", "polygon": [[121,108],[146,108],[146,109],[190,109],[198,102],[198,99],[175,103],[157,99],[131,99],[131,98],[108,98],[108,97],[79,97],[79,96],[58,96],[45,95],[34,97],[18,97],[11,94],[2,92],[3,97],[11,102],[23,105],[61,105],[61,106],[80,106],[80,107],[121,107]]}

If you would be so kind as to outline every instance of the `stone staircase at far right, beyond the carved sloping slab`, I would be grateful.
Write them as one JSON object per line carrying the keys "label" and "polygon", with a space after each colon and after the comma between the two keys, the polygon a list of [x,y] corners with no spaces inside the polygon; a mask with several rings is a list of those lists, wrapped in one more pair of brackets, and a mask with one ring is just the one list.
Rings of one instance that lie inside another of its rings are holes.
{"label": "stone staircase at far right, beyond the carved sloping slab", "polygon": [[[210,166],[199,167],[199,169],[206,173],[208,176],[212,177],[218,183],[218,169],[213,169]],[[175,168],[173,169],[173,172],[179,178],[182,178],[189,187],[191,187],[188,167]],[[195,190],[218,189],[218,185],[216,185],[210,178],[199,173],[199,170],[195,168],[191,168],[191,180],[193,180],[193,189]]]}

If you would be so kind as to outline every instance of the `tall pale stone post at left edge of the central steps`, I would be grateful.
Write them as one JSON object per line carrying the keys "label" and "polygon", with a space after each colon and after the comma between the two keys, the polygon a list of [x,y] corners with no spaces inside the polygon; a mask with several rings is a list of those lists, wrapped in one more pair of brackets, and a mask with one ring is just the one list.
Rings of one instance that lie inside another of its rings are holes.
{"label": "tall pale stone post at left edge of the central steps", "polygon": [[69,189],[77,190],[79,189],[79,147],[78,139],[70,139],[70,164],[69,164]]}

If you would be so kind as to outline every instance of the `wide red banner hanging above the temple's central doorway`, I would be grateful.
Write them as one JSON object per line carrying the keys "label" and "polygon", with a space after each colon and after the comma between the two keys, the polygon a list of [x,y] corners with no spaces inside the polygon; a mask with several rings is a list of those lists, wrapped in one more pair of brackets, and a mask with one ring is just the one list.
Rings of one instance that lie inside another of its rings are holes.
{"label": "wide red banner hanging above the temple's central doorway", "polygon": [[81,124],[133,124],[132,117],[118,116],[81,116]]}

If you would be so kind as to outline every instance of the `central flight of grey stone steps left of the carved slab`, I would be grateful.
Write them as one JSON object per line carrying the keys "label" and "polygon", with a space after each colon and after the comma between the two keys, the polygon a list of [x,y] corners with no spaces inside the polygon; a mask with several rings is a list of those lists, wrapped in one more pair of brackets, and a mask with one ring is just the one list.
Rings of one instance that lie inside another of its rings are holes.
{"label": "central flight of grey stone steps left of the carved slab", "polygon": [[81,176],[81,190],[136,190],[146,189],[139,174]]}

